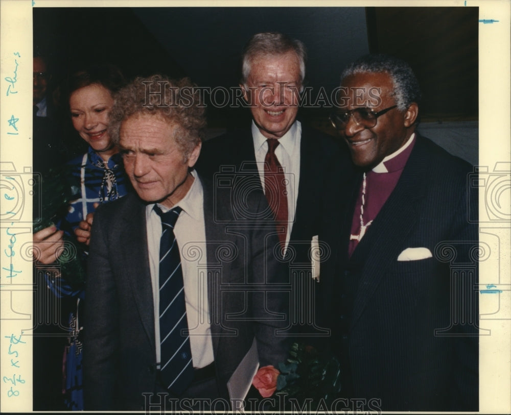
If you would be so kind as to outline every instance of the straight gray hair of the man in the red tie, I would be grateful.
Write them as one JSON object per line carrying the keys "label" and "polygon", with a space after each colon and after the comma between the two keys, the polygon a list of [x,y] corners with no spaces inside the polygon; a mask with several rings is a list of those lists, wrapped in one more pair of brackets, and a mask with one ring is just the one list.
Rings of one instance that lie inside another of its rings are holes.
{"label": "straight gray hair of the man in the red tie", "polygon": [[241,83],[246,84],[250,75],[252,60],[257,56],[283,55],[294,52],[300,64],[300,83],[305,78],[305,62],[307,61],[307,48],[298,39],[293,39],[283,33],[264,32],[253,35],[243,48],[241,55]]}

